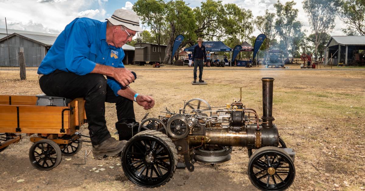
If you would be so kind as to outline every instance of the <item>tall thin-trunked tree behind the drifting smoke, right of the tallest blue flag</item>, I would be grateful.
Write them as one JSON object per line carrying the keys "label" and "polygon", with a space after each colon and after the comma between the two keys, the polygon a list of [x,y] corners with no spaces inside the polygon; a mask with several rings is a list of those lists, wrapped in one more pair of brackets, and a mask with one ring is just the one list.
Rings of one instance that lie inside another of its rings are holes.
{"label": "tall thin-trunked tree behind the drifting smoke, right of the tallest blue flag", "polygon": [[276,8],[277,19],[275,22],[278,35],[283,41],[284,45],[284,56],[289,59],[288,48],[292,43],[293,35],[295,33],[295,27],[300,23],[296,21],[298,9],[294,9],[293,6],[296,3],[294,1],[288,1],[285,5],[281,4],[280,1],[274,4]]}

